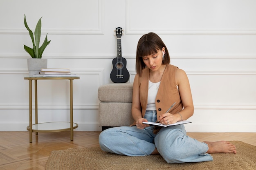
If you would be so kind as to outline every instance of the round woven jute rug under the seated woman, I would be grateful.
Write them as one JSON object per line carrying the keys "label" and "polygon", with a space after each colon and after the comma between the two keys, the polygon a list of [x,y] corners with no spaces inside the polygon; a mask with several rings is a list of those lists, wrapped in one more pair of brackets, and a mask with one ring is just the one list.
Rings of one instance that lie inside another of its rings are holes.
{"label": "round woven jute rug under the seated woman", "polygon": [[101,148],[52,151],[45,170],[256,170],[256,146],[241,141],[236,154],[211,154],[213,161],[166,163],[160,155],[128,157],[104,152]]}

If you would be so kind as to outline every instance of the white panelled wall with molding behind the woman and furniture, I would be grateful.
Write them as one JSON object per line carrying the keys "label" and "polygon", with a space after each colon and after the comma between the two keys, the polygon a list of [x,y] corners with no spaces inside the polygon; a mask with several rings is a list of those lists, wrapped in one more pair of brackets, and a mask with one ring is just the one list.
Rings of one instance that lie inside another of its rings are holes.
{"label": "white panelled wall with molding behind the woman and furniture", "polygon": [[[256,1],[254,0],[0,0],[0,130],[29,124],[28,54],[42,18],[43,58],[49,68],[70,68],[76,130],[98,131],[97,89],[111,83],[116,27],[122,54],[135,75],[139,38],[155,32],[171,64],[188,74],[195,114],[188,132],[256,132]],[[39,121],[69,121],[69,82],[38,81]]]}

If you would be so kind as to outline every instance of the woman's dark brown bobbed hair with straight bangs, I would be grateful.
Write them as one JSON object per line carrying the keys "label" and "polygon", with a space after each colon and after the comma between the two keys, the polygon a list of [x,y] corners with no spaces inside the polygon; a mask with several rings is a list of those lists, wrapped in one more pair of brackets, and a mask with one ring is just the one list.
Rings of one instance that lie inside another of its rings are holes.
{"label": "woman's dark brown bobbed hair with straight bangs", "polygon": [[146,68],[142,57],[157,53],[163,47],[165,48],[165,55],[162,64],[170,64],[170,55],[162,39],[156,33],[142,35],[139,39],[136,52],[136,71],[139,76],[141,76],[142,70]]}

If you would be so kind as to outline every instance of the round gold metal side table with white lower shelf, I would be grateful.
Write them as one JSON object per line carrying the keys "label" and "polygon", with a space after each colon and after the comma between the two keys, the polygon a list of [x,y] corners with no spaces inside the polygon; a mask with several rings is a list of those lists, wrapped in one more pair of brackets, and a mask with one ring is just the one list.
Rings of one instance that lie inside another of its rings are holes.
{"label": "round gold metal side table with white lower shelf", "polygon": [[[73,80],[80,79],[80,77],[24,77],[29,80],[29,142],[33,141],[32,132],[61,132],[70,130],[70,140],[73,141],[74,129],[78,124],[73,122]],[[45,122],[38,124],[38,107],[37,107],[37,80],[70,80],[70,122]],[[35,124],[32,124],[32,81],[35,81]]]}

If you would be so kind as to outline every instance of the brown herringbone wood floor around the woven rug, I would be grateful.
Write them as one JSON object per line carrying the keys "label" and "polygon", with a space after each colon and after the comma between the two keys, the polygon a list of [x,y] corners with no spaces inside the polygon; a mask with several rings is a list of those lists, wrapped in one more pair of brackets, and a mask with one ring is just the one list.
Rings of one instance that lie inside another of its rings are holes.
{"label": "brown herringbone wood floor around the woven rug", "polygon": [[[29,132],[0,132],[0,170],[44,170],[52,150],[99,146],[100,132],[33,133],[29,143]],[[188,133],[199,141],[239,140],[256,146],[256,133]]]}

